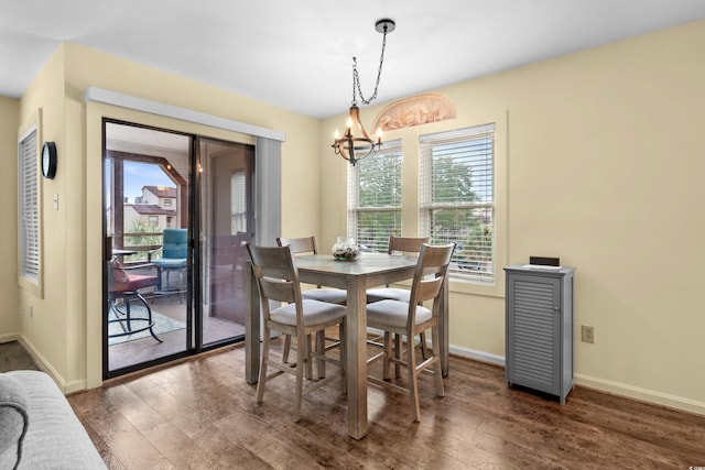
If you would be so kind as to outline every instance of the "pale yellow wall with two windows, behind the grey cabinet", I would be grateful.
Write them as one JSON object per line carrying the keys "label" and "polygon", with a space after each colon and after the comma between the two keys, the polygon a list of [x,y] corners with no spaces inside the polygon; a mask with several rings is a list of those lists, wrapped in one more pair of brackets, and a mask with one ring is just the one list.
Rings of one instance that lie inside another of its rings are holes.
{"label": "pale yellow wall with two windows, behind the grey cabinet", "polygon": [[[431,90],[451,99],[457,120],[386,136],[404,139],[404,190],[414,196],[404,198],[403,223],[413,236],[417,136],[506,110],[506,152],[497,159],[507,159],[508,204],[498,216],[508,242],[499,254],[510,264],[556,255],[577,267],[577,382],[698,413],[704,47],[705,22],[696,22]],[[364,122],[384,105],[365,108]],[[346,231],[346,163],[329,149],[344,122],[341,114],[322,124],[324,245]],[[503,360],[503,298],[466,289],[453,285],[452,347]],[[579,342],[581,325],[595,327],[594,345]]]}

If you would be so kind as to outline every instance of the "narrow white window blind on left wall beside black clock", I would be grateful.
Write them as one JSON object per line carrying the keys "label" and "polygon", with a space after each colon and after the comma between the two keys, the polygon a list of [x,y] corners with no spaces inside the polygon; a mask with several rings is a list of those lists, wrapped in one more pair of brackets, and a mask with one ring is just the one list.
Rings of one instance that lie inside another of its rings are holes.
{"label": "narrow white window blind on left wall beside black clock", "polygon": [[39,177],[36,127],[25,132],[18,144],[20,275],[39,284]]}

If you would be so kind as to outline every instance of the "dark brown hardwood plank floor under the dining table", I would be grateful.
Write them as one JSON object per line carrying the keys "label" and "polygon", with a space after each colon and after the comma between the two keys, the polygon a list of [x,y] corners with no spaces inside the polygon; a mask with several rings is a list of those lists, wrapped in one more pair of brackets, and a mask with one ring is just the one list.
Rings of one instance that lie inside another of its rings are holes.
{"label": "dark brown hardwood plank floor under the dining table", "polygon": [[[293,378],[254,405],[245,350],[189,359],[69,396],[111,469],[687,469],[705,466],[705,416],[576,387],[561,406],[511,389],[501,368],[452,357],[446,396],[420,378],[405,395],[369,386],[369,434],[347,436],[332,384],[291,418]],[[377,372],[377,365],[372,368]]]}

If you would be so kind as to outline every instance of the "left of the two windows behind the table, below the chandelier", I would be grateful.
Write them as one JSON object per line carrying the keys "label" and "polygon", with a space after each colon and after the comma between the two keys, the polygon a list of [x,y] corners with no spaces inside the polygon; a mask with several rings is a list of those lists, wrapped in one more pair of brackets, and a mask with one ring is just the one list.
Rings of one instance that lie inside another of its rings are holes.
{"label": "left of the two windows behind the table, below the chandelier", "polygon": [[348,233],[364,251],[387,252],[401,236],[401,141],[348,165]]}

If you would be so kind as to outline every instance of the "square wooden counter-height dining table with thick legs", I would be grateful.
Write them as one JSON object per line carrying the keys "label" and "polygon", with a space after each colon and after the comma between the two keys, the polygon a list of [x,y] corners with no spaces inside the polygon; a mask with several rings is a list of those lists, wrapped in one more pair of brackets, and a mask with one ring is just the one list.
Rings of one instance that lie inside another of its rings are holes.
{"label": "square wooden counter-height dining table with thick legs", "polygon": [[[347,291],[348,317],[346,379],[348,435],[361,439],[367,435],[367,289],[413,277],[416,258],[386,253],[361,253],[352,261],[338,261],[330,254],[296,256],[302,283]],[[260,305],[257,282],[248,265],[246,313],[246,380],[257,383],[260,368]],[[441,364],[448,373],[448,289],[444,283],[441,297]]]}

